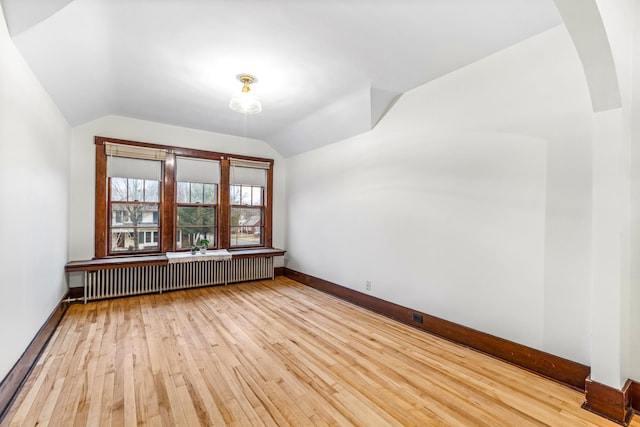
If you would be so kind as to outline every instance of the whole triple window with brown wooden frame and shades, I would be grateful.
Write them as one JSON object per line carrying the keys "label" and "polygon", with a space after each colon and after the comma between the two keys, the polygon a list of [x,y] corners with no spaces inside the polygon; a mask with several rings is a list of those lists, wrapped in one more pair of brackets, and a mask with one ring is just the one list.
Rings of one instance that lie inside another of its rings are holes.
{"label": "whole triple window with brown wooden frame and shades", "polygon": [[96,258],[271,247],[272,160],[95,139]]}

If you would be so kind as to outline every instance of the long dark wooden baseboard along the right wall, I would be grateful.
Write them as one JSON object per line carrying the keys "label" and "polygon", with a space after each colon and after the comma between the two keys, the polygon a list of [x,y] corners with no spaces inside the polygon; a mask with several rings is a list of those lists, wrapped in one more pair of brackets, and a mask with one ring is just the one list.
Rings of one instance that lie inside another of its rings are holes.
{"label": "long dark wooden baseboard along the right wall", "polygon": [[[585,380],[590,373],[589,366],[430,316],[290,268],[285,267],[284,275],[312,288],[512,363],[576,390],[585,390]],[[414,321],[414,315],[421,318],[422,323]]]}

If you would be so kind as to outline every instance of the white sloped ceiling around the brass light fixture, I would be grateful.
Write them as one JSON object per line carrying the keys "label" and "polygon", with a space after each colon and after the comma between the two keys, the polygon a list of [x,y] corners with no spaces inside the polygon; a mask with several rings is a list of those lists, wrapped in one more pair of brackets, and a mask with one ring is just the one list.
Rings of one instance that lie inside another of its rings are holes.
{"label": "white sloped ceiling around the brass light fixture", "polygon": [[[115,114],[283,156],[375,125],[403,92],[559,25],[553,0],[0,0],[71,125]],[[228,108],[239,73],[263,112]]]}

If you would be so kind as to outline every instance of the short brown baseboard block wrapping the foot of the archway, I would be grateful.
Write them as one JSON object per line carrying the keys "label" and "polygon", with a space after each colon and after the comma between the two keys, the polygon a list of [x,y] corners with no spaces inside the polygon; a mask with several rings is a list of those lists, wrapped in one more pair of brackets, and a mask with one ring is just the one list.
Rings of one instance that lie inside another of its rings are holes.
{"label": "short brown baseboard block wrapping the foot of the archway", "polygon": [[587,378],[582,407],[618,424],[629,425],[633,416],[632,384],[628,380],[622,390],[618,390]]}

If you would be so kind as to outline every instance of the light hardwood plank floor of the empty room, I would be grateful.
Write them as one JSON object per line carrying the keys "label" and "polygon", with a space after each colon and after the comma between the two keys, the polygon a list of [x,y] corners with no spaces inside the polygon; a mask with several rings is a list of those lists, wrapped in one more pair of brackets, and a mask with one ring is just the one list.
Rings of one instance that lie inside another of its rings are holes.
{"label": "light hardwood plank floor of the empty room", "polygon": [[73,305],[2,426],[617,425],[582,401],[277,278]]}

